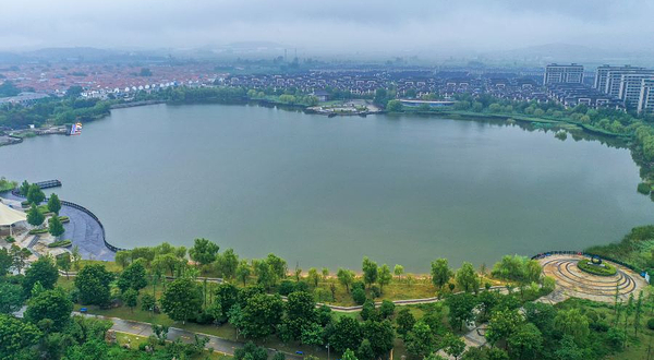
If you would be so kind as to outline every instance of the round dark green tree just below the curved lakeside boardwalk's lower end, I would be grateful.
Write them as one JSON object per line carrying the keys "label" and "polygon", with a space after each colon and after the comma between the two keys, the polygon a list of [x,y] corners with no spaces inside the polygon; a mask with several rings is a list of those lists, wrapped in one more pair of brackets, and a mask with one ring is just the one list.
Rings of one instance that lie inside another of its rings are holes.
{"label": "round dark green tree just below the curved lakeside boardwalk's lower end", "polygon": [[75,277],[75,287],[80,290],[82,304],[106,305],[109,303],[109,284],[113,274],[109,273],[102,264],[84,266]]}

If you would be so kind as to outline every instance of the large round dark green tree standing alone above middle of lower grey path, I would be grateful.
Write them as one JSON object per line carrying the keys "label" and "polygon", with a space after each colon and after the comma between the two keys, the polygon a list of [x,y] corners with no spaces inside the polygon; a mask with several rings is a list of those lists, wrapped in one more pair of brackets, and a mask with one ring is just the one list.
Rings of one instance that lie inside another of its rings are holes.
{"label": "large round dark green tree standing alone above middle of lower grey path", "polygon": [[159,303],[170,319],[185,323],[201,309],[202,292],[193,279],[177,278],[168,285]]}

